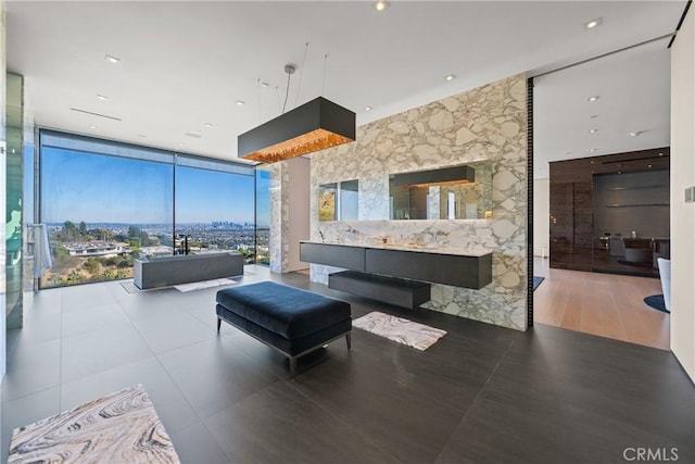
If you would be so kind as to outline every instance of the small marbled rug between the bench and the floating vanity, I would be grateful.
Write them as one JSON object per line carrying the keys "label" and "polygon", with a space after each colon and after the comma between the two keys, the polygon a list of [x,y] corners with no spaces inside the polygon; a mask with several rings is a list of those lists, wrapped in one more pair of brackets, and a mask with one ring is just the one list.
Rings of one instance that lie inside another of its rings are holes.
{"label": "small marbled rug between the bench and the floating vanity", "polygon": [[353,327],[425,351],[446,335],[445,330],[374,311],[352,322]]}

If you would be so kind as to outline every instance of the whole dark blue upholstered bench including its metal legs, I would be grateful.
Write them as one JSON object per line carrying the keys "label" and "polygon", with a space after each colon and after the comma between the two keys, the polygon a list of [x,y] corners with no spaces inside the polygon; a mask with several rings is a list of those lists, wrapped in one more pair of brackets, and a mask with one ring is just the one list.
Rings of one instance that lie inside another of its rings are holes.
{"label": "whole dark blue upholstered bench including its metal legs", "polygon": [[307,290],[262,281],[219,290],[217,331],[222,321],[274,348],[290,361],[345,337],[350,349],[350,304]]}

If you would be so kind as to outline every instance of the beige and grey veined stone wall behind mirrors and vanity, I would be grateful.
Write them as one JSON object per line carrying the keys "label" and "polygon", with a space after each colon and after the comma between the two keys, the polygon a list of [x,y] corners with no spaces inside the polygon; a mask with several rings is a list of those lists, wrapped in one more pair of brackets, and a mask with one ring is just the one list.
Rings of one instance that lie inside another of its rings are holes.
{"label": "beige and grey veined stone wall behind mirrors and vanity", "polygon": [[[505,78],[357,128],[357,140],[312,156],[312,240],[415,241],[493,252],[493,281],[483,289],[433,285],[426,308],[527,328],[527,79]],[[388,221],[389,174],[490,160],[490,220]],[[318,221],[320,184],[359,179],[361,221]],[[320,234],[319,234],[320,231]],[[312,264],[327,284],[336,268]]]}

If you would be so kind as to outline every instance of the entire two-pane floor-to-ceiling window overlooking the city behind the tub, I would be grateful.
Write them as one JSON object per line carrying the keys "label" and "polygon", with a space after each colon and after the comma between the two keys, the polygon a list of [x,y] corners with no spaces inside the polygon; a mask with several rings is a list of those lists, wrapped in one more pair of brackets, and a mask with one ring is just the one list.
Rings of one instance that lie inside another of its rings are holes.
{"label": "entire two-pane floor-to-ceiling window overlooking the city behind the tub", "polygon": [[254,170],[41,130],[40,287],[132,276],[134,260],[236,250],[255,260]]}

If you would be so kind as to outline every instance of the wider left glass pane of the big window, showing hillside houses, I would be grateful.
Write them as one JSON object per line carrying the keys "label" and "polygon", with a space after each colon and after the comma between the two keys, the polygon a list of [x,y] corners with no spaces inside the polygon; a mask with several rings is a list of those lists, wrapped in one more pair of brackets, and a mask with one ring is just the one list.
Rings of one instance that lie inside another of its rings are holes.
{"label": "wider left glass pane of the big window, showing hillside houses", "polygon": [[170,254],[173,168],[43,145],[40,212],[52,267],[40,287],[128,278],[141,253]]}

